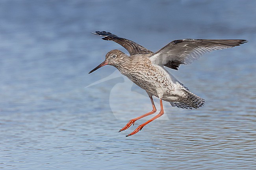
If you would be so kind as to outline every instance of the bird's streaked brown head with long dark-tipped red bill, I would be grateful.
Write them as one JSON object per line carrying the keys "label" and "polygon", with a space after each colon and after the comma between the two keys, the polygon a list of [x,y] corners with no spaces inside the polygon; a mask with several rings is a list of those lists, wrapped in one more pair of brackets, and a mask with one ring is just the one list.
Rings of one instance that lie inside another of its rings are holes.
{"label": "bird's streaked brown head with long dark-tipped red bill", "polygon": [[106,60],[98,65],[96,68],[94,68],[92,71],[90,71],[89,74],[105,65],[118,67],[120,64],[126,62],[127,57],[128,56],[122,51],[118,49],[113,49],[107,53]]}

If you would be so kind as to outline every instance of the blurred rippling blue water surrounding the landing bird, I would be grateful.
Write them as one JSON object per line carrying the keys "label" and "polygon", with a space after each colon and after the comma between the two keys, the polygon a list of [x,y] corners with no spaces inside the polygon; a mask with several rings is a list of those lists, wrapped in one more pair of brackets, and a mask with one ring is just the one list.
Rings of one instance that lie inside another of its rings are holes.
{"label": "blurred rippling blue water surrounding the landing bird", "polygon": [[[150,100],[114,67],[88,75],[111,49],[127,53],[94,31],[151,51],[181,38],[249,42],[170,69],[205,106],[165,102],[165,117],[126,138],[149,118],[119,129]],[[255,169],[255,47],[255,0],[1,0],[0,168]]]}

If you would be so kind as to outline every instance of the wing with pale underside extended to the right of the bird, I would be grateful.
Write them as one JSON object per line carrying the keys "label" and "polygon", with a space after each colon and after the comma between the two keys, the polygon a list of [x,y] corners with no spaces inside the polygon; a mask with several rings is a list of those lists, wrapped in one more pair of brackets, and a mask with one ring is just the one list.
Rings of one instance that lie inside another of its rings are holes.
{"label": "wing with pale underside extended to the right of the bird", "polygon": [[231,48],[246,43],[247,40],[174,40],[150,56],[153,64],[178,70],[180,64],[191,64],[207,52]]}

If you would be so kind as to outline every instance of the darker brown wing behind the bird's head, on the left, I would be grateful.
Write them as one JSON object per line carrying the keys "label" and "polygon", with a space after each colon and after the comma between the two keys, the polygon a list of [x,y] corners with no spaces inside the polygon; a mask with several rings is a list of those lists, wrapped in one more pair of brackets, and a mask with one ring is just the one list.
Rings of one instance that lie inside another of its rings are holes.
{"label": "darker brown wing behind the bird's head, on the left", "polygon": [[127,49],[127,51],[130,53],[130,55],[135,55],[135,54],[151,54],[153,53],[152,51],[150,51],[149,49],[131,41],[125,38],[121,38],[121,37],[117,37],[117,35],[111,34],[109,32],[106,31],[96,31],[95,33],[93,33],[95,35],[100,35],[104,38],[102,38],[103,40],[109,40],[109,41],[114,41],[118,44],[120,44],[121,46],[123,46],[125,49]]}

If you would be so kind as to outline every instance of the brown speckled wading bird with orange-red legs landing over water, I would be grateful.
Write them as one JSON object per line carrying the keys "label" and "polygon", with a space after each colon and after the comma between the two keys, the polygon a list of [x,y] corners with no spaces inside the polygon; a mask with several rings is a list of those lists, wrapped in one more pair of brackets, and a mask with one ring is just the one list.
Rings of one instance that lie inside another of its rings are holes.
{"label": "brown speckled wading bird with orange-red legs landing over water", "polygon": [[161,117],[164,114],[163,101],[182,109],[197,109],[204,105],[203,98],[189,91],[166,68],[178,70],[180,64],[191,64],[205,53],[240,46],[248,42],[243,39],[180,39],[170,42],[154,53],[132,40],[118,37],[110,32],[96,31],[93,34],[102,36],[103,40],[120,44],[129,52],[130,56],[121,50],[113,49],[106,54],[106,59],[92,69],[89,74],[105,65],[114,66],[121,74],[145,90],[152,104],[152,111],[131,119],[119,132],[128,129],[132,124],[134,125],[135,121],[156,113],[153,96],[160,100],[160,112],[139,125],[126,137],[134,135],[148,123]]}

